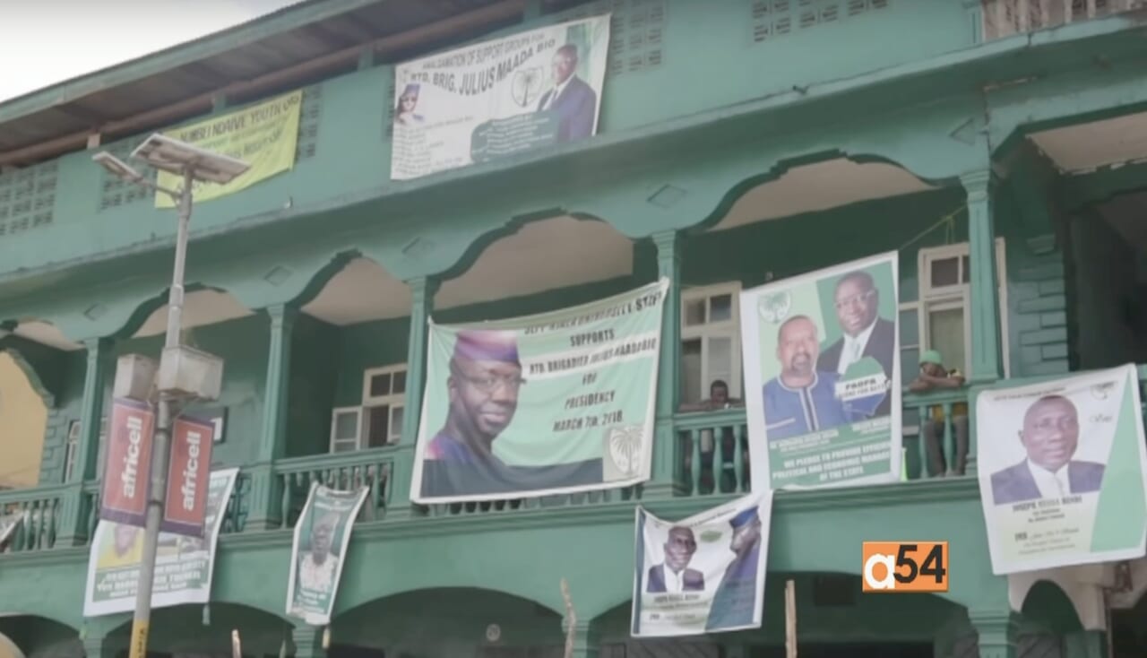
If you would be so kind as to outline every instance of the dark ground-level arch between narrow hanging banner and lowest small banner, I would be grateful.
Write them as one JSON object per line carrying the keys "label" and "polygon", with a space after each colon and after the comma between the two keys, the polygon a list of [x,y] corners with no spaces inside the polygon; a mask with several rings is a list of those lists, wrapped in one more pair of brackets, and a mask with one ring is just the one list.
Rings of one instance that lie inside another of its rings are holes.
{"label": "dark ground-level arch between narrow hanging banner and lowest small banner", "polygon": [[562,618],[510,594],[473,588],[407,591],[359,605],[330,626],[330,656],[561,658]]}

